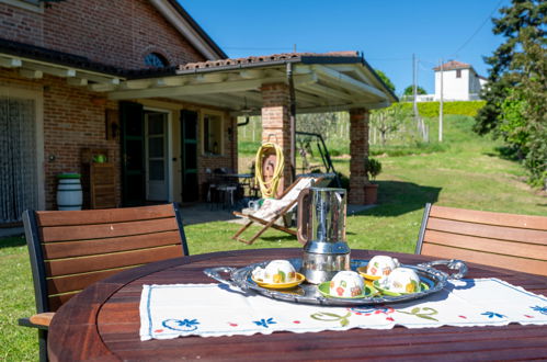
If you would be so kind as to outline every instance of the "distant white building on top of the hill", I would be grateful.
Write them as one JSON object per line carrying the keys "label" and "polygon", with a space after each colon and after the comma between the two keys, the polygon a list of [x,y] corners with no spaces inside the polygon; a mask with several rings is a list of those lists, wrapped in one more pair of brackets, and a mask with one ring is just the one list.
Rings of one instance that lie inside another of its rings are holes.
{"label": "distant white building on top of the hill", "polygon": [[[443,64],[443,99],[445,101],[475,101],[479,100],[479,92],[487,82],[479,76],[471,65],[451,60]],[[434,100],[441,99],[441,66],[435,70]]]}

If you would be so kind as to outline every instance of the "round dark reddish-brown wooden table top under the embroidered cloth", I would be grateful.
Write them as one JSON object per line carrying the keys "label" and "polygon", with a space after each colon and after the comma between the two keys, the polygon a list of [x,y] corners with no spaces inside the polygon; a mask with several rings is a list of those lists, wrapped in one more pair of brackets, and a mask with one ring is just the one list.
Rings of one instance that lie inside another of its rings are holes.
{"label": "round dark reddish-brown wooden table top under the embroidered cloth", "polygon": [[[378,251],[352,250],[369,259]],[[413,264],[435,258],[381,252]],[[48,331],[52,361],[95,360],[500,360],[547,355],[547,328],[512,324],[503,327],[440,327],[388,330],[351,329],[314,333],[274,332],[232,337],[183,337],[140,341],[143,284],[212,283],[203,270],[242,268],[271,259],[299,258],[301,249],[225,251],[183,257],[135,268],[98,282],[55,315]],[[499,278],[547,295],[547,278],[468,264],[466,278]]]}

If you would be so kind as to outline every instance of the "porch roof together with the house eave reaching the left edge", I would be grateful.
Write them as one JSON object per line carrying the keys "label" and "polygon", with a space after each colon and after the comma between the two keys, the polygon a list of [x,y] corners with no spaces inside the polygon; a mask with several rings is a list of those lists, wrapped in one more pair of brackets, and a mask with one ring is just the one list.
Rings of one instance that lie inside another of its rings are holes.
{"label": "porch roof together with the house eave reaching the left edge", "polygon": [[121,69],[84,57],[0,38],[0,67],[27,78],[67,78],[112,100],[172,99],[260,114],[261,87],[288,83],[290,69],[299,113],[378,109],[397,102],[357,52],[288,53],[190,63],[161,69]]}

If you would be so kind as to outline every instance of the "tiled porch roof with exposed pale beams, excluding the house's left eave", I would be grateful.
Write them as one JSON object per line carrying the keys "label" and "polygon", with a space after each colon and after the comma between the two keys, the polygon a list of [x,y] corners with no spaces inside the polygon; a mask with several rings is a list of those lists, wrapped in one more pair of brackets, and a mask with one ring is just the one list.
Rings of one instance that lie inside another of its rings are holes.
{"label": "tiled porch roof with exposed pale beams, excluding the house's left eave", "polygon": [[[289,70],[288,70],[289,69]],[[172,76],[128,79],[104,89],[112,100],[169,98],[260,114],[263,84],[289,82],[300,113],[378,109],[398,101],[356,52],[289,53],[181,65]]]}

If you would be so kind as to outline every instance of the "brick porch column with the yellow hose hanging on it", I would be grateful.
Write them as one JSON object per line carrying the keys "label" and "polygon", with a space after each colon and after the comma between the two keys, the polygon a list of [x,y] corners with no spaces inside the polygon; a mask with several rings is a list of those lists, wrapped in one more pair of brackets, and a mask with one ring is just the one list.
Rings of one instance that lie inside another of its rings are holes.
{"label": "brick porch column with the yellow hose hanging on it", "polygon": [[277,194],[292,182],[289,92],[285,83],[264,84],[262,92],[262,143],[275,143],[283,149],[285,168]]}

